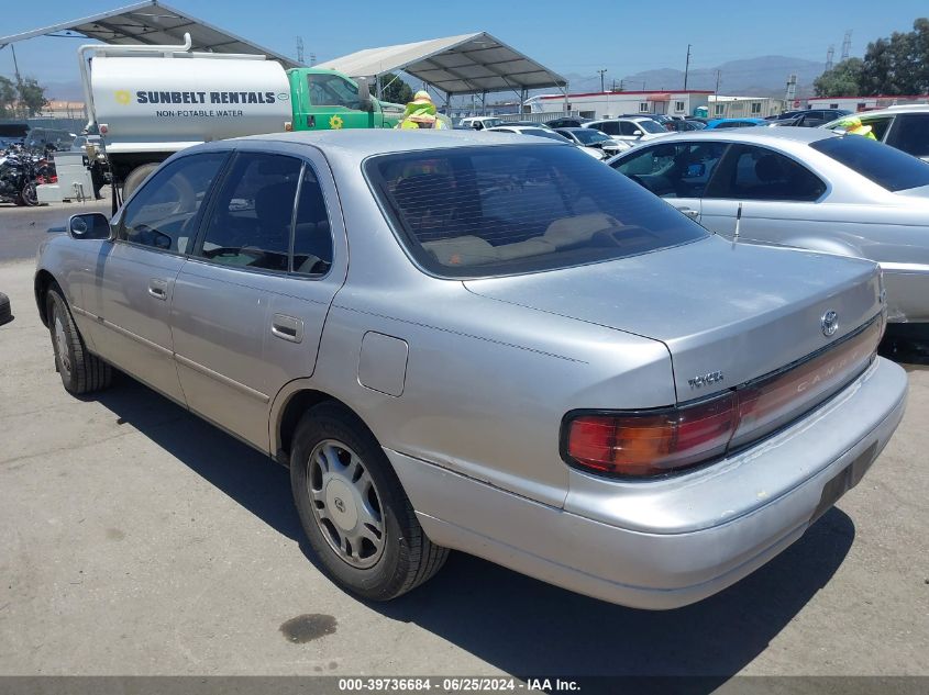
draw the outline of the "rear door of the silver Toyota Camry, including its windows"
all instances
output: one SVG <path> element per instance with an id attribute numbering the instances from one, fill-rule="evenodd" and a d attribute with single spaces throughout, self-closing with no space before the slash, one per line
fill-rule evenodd
<path id="1" fill-rule="evenodd" d="M 270 403 L 312 374 L 345 279 L 335 200 L 321 156 L 241 145 L 177 278 L 172 326 L 187 403 L 262 450 Z"/>

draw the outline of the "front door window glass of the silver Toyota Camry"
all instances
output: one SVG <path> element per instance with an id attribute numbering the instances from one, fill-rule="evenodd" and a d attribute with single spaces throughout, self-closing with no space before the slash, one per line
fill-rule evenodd
<path id="1" fill-rule="evenodd" d="M 191 155 L 156 171 L 126 204 L 119 238 L 163 251 L 189 253 L 203 199 L 226 156 Z"/>

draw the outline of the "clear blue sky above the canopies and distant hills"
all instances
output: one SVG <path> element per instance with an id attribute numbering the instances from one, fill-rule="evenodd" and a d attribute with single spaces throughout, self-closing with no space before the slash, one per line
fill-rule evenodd
<path id="1" fill-rule="evenodd" d="M 15 34 L 88 16 L 128 0 L 41 0 L 3 3 L 0 35 Z M 167 4 L 221 29 L 289 56 L 303 38 L 307 59 L 322 61 L 390 44 L 487 31 L 563 75 L 607 80 L 652 68 L 710 68 L 727 60 L 786 55 L 825 63 L 829 44 L 839 58 L 845 30 L 852 30 L 851 55 L 861 56 L 869 41 L 894 31 L 910 31 L 929 14 L 926 0 L 847 0 L 843 3 L 645 0 L 604 2 L 513 2 L 452 0 L 438 2 L 295 2 L 289 0 L 170 0 Z M 841 8 L 827 9 L 825 5 Z M 752 5 L 752 7 L 748 7 Z M 53 85 L 78 81 L 76 49 L 80 38 L 33 38 L 16 44 L 20 71 Z M 0 49 L 0 75 L 12 76 L 9 46 Z"/>

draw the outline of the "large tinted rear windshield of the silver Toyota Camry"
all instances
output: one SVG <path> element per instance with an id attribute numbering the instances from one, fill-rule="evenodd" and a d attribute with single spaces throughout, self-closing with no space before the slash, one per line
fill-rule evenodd
<path id="1" fill-rule="evenodd" d="M 566 268 L 708 235 L 576 147 L 379 155 L 365 172 L 410 255 L 447 278 Z"/>

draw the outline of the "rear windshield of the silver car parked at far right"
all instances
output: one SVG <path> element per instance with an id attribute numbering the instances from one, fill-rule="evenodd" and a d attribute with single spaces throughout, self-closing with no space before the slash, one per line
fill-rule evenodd
<path id="1" fill-rule="evenodd" d="M 810 147 L 888 191 L 929 186 L 929 164 L 862 135 L 827 137 Z"/>

